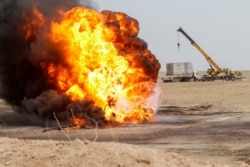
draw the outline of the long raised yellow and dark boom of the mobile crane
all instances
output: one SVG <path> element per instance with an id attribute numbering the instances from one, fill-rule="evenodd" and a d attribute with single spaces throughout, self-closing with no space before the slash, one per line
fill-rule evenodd
<path id="1" fill-rule="evenodd" d="M 216 71 L 212 68 L 209 71 L 209 74 L 212 76 L 217 76 L 221 72 L 225 72 L 181 27 L 177 30 L 181 32 L 190 42 L 191 44 L 205 57 L 205 59 L 209 62 L 210 66 L 216 68 Z"/>

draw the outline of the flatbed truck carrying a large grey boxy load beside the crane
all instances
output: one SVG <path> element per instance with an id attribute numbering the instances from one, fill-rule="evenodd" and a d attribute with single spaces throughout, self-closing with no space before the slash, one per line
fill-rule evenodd
<path id="1" fill-rule="evenodd" d="M 198 80 L 192 62 L 176 62 L 166 64 L 166 75 L 161 77 L 163 82 L 192 82 Z"/>

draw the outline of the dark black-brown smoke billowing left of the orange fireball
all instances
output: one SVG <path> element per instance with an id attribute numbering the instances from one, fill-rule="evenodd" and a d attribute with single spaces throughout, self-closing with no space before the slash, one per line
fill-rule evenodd
<path id="1" fill-rule="evenodd" d="M 25 11 L 32 18 L 33 7 L 36 6 L 46 18 L 52 20 L 56 19 L 59 9 L 66 11 L 81 5 L 92 9 L 97 7 L 92 0 L 0 1 L 0 93 L 1 98 L 18 108 L 18 111 L 52 117 L 52 110 L 64 111 L 69 103 L 66 96 L 54 90 L 55 85 L 48 82 L 37 65 L 36 53 L 42 47 L 36 44 L 36 36 L 28 41 L 23 39 L 21 27 L 27 24 L 27 20 L 23 18 L 22 12 Z M 59 119 L 65 119 L 65 113 L 59 114 Z"/>

